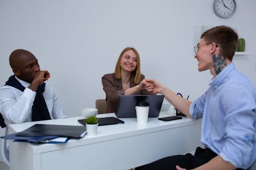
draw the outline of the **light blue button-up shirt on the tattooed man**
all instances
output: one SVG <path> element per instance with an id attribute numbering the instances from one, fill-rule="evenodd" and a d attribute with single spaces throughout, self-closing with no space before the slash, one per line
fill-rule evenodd
<path id="1" fill-rule="evenodd" d="M 190 105 L 202 118 L 201 142 L 225 161 L 247 169 L 256 159 L 256 90 L 233 63 Z"/>

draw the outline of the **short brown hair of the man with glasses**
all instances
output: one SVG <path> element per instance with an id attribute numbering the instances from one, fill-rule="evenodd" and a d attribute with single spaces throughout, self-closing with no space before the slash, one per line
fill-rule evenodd
<path id="1" fill-rule="evenodd" d="M 230 27 L 218 26 L 205 31 L 201 38 L 206 42 L 215 42 L 220 47 L 220 54 L 232 61 L 238 47 L 238 34 Z"/>

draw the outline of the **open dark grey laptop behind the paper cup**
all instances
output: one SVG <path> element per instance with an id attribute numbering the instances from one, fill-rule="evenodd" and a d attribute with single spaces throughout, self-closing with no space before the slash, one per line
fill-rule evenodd
<path id="1" fill-rule="evenodd" d="M 136 117 L 135 105 L 137 102 L 150 103 L 148 117 L 158 117 L 164 95 L 119 95 L 116 115 L 120 118 Z"/>

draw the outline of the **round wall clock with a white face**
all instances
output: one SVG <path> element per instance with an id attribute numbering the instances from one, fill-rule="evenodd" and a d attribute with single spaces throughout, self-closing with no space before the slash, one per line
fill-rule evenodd
<path id="1" fill-rule="evenodd" d="M 221 18 L 228 18 L 236 11 L 237 3 L 235 0 L 215 0 L 214 12 Z"/>

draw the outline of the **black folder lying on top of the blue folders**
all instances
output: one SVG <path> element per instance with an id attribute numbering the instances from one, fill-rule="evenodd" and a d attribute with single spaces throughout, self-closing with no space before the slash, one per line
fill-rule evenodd
<path id="1" fill-rule="evenodd" d="M 63 137 L 81 138 L 86 134 L 86 127 L 84 126 L 70 126 L 70 125 L 45 125 L 35 124 L 30 128 L 17 133 L 17 136 L 50 136 L 57 135 Z"/>

